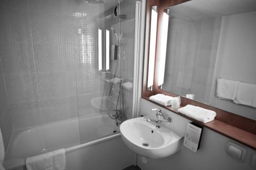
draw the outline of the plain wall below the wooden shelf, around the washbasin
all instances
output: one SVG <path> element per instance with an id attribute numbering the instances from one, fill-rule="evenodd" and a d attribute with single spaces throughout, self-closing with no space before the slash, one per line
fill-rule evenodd
<path id="1" fill-rule="evenodd" d="M 159 108 L 159 106 L 150 103 L 144 99 L 140 100 L 140 114 L 148 115 L 151 118 L 156 118 L 155 112 L 151 111 L 152 108 Z M 181 117 L 173 112 L 161 108 L 165 116 L 170 116 L 173 118 L 172 123 L 162 123 L 176 133 L 183 135 L 185 134 L 188 119 Z M 174 170 L 216 170 L 216 169 L 255 169 L 250 165 L 252 158 L 252 153 L 256 154 L 250 148 L 247 148 L 247 156 L 244 162 L 234 160 L 229 157 L 225 152 L 226 142 L 229 141 L 227 137 L 220 135 L 214 131 L 207 128 L 203 129 L 202 139 L 200 149 L 197 153 L 189 151 L 185 147 L 181 149 L 178 153 L 164 158 L 164 159 L 148 159 L 147 163 L 141 162 L 141 157 L 138 157 L 138 165 L 144 170 L 162 170 L 162 169 L 174 169 Z"/>

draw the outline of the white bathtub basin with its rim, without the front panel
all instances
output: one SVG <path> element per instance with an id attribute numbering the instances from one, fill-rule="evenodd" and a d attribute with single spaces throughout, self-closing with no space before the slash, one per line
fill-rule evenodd
<path id="1" fill-rule="evenodd" d="M 115 121 L 106 113 L 17 130 L 13 132 L 4 166 L 16 169 L 25 165 L 27 157 L 61 148 L 65 148 L 67 154 L 119 137 L 120 133 L 113 133 L 114 130 Z"/>

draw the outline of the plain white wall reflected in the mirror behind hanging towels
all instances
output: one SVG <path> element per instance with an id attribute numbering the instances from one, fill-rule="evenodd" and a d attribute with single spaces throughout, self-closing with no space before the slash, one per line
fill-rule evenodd
<path id="1" fill-rule="evenodd" d="M 256 84 L 256 11 L 224 16 L 214 80 L 226 78 Z M 216 87 L 216 81 L 213 86 Z M 220 100 L 212 88 L 210 105 L 256 120 L 256 109 Z"/>

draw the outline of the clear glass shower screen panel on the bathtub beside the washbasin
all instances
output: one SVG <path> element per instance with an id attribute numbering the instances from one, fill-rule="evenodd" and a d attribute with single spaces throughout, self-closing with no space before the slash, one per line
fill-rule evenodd
<path id="1" fill-rule="evenodd" d="M 82 2 L 77 102 L 81 142 L 119 131 L 132 117 L 135 1 Z"/>

